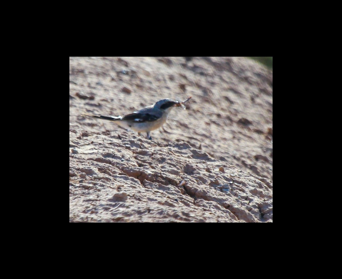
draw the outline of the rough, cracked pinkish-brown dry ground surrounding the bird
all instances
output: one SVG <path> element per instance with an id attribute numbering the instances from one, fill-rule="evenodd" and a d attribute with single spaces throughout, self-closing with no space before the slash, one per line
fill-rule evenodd
<path id="1" fill-rule="evenodd" d="M 273 222 L 272 83 L 246 57 L 70 57 L 69 222 Z M 83 116 L 189 96 L 152 140 Z"/>

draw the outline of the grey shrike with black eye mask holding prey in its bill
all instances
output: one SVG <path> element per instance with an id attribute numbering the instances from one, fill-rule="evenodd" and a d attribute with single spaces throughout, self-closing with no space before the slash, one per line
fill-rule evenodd
<path id="1" fill-rule="evenodd" d="M 191 97 L 190 97 L 191 98 Z M 87 117 L 100 118 L 105 120 L 114 121 L 120 127 L 140 133 L 145 132 L 147 139 L 152 139 L 150 132 L 160 128 L 168 119 L 171 109 L 175 106 L 182 106 L 187 102 L 173 101 L 171 99 L 162 99 L 155 105 L 145 107 L 141 110 L 134 111 L 132 114 L 126 116 L 96 116 L 89 115 Z"/>

